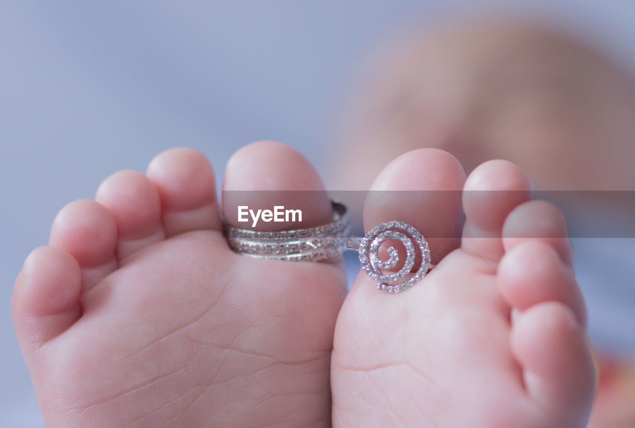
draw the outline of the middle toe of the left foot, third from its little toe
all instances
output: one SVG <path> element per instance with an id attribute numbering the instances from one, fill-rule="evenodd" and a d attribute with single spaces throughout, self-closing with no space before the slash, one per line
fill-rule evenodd
<path id="1" fill-rule="evenodd" d="M 117 259 L 165 238 L 161 223 L 161 199 L 148 177 L 137 171 L 120 171 L 108 177 L 97 190 L 117 223 Z"/>

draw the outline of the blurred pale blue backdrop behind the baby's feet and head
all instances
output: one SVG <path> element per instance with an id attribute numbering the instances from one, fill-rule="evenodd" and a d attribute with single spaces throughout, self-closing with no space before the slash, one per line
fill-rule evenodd
<path id="1" fill-rule="evenodd" d="M 0 425 L 42 426 L 10 300 L 23 259 L 46 244 L 59 209 L 92 198 L 112 172 L 144 171 L 152 156 L 174 146 L 208 155 L 219 184 L 229 156 L 262 139 L 290 144 L 323 176 L 333 174 L 343 106 L 369 52 L 404 25 L 501 7 L 439 0 L 0 2 Z M 635 3 L 507 1 L 505 9 L 582 34 L 635 69 Z M 634 248 L 623 244 L 624 261 L 615 267 L 622 281 Z M 632 300 L 627 304 L 623 310 Z M 603 327 L 597 315 L 593 324 L 592 311 L 592 326 L 598 336 L 608 331 L 608 347 L 632 350 L 628 337 L 610 334 L 616 324 L 635 330 L 624 324 L 632 318 L 619 314 Z"/>

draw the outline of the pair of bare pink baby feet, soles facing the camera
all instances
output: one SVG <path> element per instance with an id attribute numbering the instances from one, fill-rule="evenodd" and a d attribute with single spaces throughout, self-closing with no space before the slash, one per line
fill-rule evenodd
<path id="1" fill-rule="evenodd" d="M 223 188 L 323 184 L 294 149 L 258 142 Z M 366 201 L 367 230 L 399 220 L 432 237 L 438 266 L 403 293 L 364 272 L 346 293 L 339 260 L 232 252 L 213 170 L 191 149 L 64 207 L 13 294 L 46 426 L 584 427 L 595 378 L 561 213 L 512 163 L 466 180 L 439 149 L 399 156 L 373 189 L 467 190 Z M 331 221 L 315 194 L 303 227 Z"/>

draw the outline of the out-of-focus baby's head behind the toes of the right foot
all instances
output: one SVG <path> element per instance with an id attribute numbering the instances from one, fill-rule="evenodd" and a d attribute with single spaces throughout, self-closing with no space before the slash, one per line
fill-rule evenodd
<path id="1" fill-rule="evenodd" d="M 634 81 L 563 31 L 509 18 L 426 25 L 385 43 L 362 74 L 331 187 L 366 189 L 396 156 L 434 147 L 467 173 L 511 160 L 542 190 L 635 189 Z"/>

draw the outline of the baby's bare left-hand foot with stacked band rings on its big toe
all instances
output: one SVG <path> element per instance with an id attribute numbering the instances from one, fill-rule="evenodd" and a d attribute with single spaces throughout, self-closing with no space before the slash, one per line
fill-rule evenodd
<path id="1" fill-rule="evenodd" d="M 234 155 L 224 189 L 323 185 L 299 153 L 261 142 Z M 206 158 L 173 149 L 58 214 L 13 295 L 48 427 L 330 425 L 341 266 L 234 254 L 214 194 Z M 332 219 L 314 195 L 302 227 Z"/>

